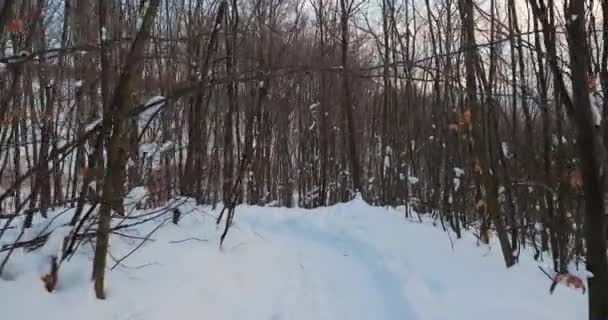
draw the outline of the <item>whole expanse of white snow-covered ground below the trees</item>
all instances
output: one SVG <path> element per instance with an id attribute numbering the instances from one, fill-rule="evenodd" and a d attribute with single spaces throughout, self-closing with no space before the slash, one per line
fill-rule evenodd
<path id="1" fill-rule="evenodd" d="M 559 320 L 585 319 L 586 296 L 550 281 L 530 254 L 509 270 L 498 246 L 448 235 L 360 200 L 303 210 L 238 207 L 223 249 L 218 212 L 184 208 L 154 241 L 108 273 L 93 296 L 92 248 L 61 266 L 57 291 L 40 275 L 48 250 L 15 253 L 0 280 L 6 319 Z M 131 230 L 145 236 L 158 225 Z M 185 240 L 196 238 L 198 240 Z M 200 241 L 206 240 L 206 241 Z M 113 236 L 121 257 L 140 240 Z M 178 242 L 178 243 L 176 243 Z M 110 266 L 113 260 L 109 260 Z"/>

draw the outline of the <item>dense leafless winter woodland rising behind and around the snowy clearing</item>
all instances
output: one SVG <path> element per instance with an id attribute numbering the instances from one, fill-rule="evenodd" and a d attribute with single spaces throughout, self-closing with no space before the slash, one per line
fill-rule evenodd
<path id="1" fill-rule="evenodd" d="M 586 267 L 589 317 L 608 319 L 607 15 L 606 0 L 0 0 L 0 238 L 76 208 L 53 270 L 93 239 L 103 298 L 137 187 L 149 208 L 223 207 L 226 232 L 242 203 L 360 195 L 497 237 L 506 267 L 522 247 Z M 2 247 L 0 274 L 44 241 Z"/>

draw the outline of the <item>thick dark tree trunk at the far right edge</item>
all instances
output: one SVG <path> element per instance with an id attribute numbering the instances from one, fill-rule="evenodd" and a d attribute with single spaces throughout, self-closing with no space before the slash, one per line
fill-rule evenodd
<path id="1" fill-rule="evenodd" d="M 585 192 L 585 241 L 589 281 L 589 320 L 608 318 L 608 257 L 606 256 L 606 217 L 604 178 L 606 154 L 595 128 L 587 87 L 588 48 L 585 31 L 585 2 L 570 1 L 566 9 L 568 42 L 572 70 L 574 121 L 583 172 Z"/>

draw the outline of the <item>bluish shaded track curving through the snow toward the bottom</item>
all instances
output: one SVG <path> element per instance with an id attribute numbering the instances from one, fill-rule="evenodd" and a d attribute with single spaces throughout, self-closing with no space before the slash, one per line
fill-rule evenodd
<path id="1" fill-rule="evenodd" d="M 303 262 L 305 273 L 309 275 L 307 282 L 316 287 L 312 294 L 325 296 L 319 300 L 326 306 L 322 303 L 318 312 L 342 309 L 343 313 L 350 313 L 348 317 L 347 314 L 333 314 L 319 315 L 319 318 L 417 319 L 414 306 L 404 295 L 402 280 L 387 267 L 379 252 L 352 235 L 336 232 L 340 229 L 315 223 L 320 222 L 314 220 L 319 218 L 298 215 L 280 219 L 272 226 L 250 221 L 250 227 L 267 231 L 265 237 L 300 243 L 298 247 L 309 258 Z M 329 261 L 316 259 L 320 257 Z M 340 267 L 350 270 L 340 270 Z M 349 272 L 353 275 L 350 279 Z M 336 308 L 336 304 L 342 304 L 344 308 Z M 349 305 L 354 310 L 343 310 Z"/>

